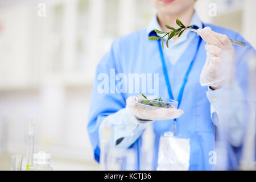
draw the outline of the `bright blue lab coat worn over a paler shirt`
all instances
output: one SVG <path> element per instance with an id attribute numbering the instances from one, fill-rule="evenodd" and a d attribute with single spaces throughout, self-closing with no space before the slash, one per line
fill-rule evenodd
<path id="1" fill-rule="evenodd" d="M 229 38 L 246 42 L 237 32 L 205 24 L 215 32 L 226 34 Z M 110 78 L 110 69 L 115 69 L 117 73 L 159 73 L 159 96 L 168 98 L 168 90 L 166 80 L 163 74 L 163 67 L 160 60 L 158 42 L 148 40 L 146 28 L 133 32 L 132 34 L 122 36 L 115 40 L 112 47 L 106 55 L 104 55 L 97 66 L 96 80 L 92 90 L 92 98 L 89 110 L 88 133 L 90 142 L 94 152 L 94 158 L 98 162 L 100 159 L 100 146 L 98 139 L 98 127 L 102 120 L 110 114 L 123 109 L 126 106 L 126 99 L 136 94 L 129 93 L 98 93 L 97 85 L 100 81 L 97 76 L 100 73 L 106 73 Z M 207 86 L 201 86 L 199 82 L 200 73 L 203 69 L 206 59 L 205 42 L 202 40 L 199 50 L 196 50 L 199 36 L 195 36 L 194 40 L 187 47 L 179 61 L 172 65 L 170 61 L 166 61 L 168 76 L 172 86 L 174 99 L 177 95 L 183 78 L 191 59 L 197 51 L 196 60 L 193 64 L 191 73 L 185 85 L 183 98 L 179 109 L 184 111 L 180 118 L 177 118 L 177 133 L 191 139 L 191 154 L 189 160 L 189 170 L 210 170 L 212 166 L 209 164 L 209 152 L 214 150 L 215 129 L 210 116 L 210 102 L 207 98 Z M 255 50 L 246 42 L 246 47 L 234 46 L 236 52 L 236 77 L 241 88 L 247 88 L 247 68 L 245 63 L 245 54 L 247 51 Z M 166 59 L 167 60 L 167 59 Z M 109 85 L 111 89 L 114 89 Z M 243 90 L 246 93 L 246 89 Z M 147 93 L 146 93 L 147 94 Z M 154 169 L 157 166 L 159 138 L 165 131 L 172 131 L 172 121 L 155 121 L 154 133 Z M 141 152 L 142 139 L 139 137 L 131 146 L 138 154 L 137 169 L 139 169 L 139 155 Z"/>

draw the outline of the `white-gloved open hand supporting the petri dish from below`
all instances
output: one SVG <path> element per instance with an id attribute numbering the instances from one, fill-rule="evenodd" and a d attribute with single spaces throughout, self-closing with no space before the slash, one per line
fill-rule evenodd
<path id="1" fill-rule="evenodd" d="M 139 119 L 148 119 L 151 121 L 179 118 L 183 114 L 181 109 L 150 109 L 136 105 L 135 96 L 126 100 L 126 109 L 130 110 Z"/>

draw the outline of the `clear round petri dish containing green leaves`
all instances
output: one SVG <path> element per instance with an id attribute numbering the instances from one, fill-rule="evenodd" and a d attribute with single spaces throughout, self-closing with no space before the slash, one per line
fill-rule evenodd
<path id="1" fill-rule="evenodd" d="M 168 98 L 162 98 L 162 101 L 154 100 L 155 98 L 144 98 L 141 95 L 135 97 L 136 105 L 150 109 L 177 109 L 178 102 Z"/>

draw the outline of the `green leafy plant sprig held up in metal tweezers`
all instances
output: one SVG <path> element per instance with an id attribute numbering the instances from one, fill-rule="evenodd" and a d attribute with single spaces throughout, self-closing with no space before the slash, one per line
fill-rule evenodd
<path id="1" fill-rule="evenodd" d="M 159 40 L 159 39 L 162 39 L 162 47 L 164 48 L 164 37 L 168 35 L 168 38 L 167 38 L 167 41 L 166 41 L 166 46 L 167 48 L 169 48 L 168 46 L 168 41 L 173 38 L 174 36 L 178 35 L 178 37 L 180 37 L 183 32 L 185 31 L 186 28 L 191 28 L 193 27 L 192 25 L 189 25 L 189 26 L 184 26 L 183 23 L 180 22 L 179 19 L 176 19 L 176 24 L 180 27 L 180 28 L 177 28 L 175 29 L 174 27 L 171 27 L 171 26 L 168 26 L 168 24 L 165 24 L 164 27 L 170 29 L 171 31 L 170 32 L 165 32 L 165 31 L 160 31 L 160 30 L 156 30 L 154 29 L 154 31 L 158 34 L 165 34 L 164 36 L 162 37 L 159 37 L 159 36 L 150 36 L 148 39 L 149 40 Z"/>

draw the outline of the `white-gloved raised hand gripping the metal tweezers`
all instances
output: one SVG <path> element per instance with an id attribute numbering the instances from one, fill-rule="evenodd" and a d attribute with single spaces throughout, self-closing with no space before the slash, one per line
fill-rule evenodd
<path id="1" fill-rule="evenodd" d="M 210 86 L 220 89 L 229 86 L 234 77 L 234 48 L 226 35 L 219 34 L 205 27 L 199 28 L 197 34 L 207 44 L 207 59 L 200 75 L 201 86 Z"/>

